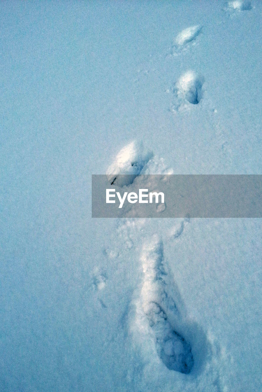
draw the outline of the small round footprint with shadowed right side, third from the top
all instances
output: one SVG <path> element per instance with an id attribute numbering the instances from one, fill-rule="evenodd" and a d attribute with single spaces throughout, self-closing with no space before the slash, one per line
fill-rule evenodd
<path id="1" fill-rule="evenodd" d="M 197 105 L 203 98 L 204 78 L 193 71 L 188 71 L 180 76 L 176 83 L 175 92 L 182 102 Z"/>

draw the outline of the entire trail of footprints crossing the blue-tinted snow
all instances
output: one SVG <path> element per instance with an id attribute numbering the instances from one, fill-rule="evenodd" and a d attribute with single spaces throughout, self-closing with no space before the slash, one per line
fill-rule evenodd
<path id="1" fill-rule="evenodd" d="M 229 1 L 225 6 L 225 10 L 229 12 L 250 9 L 252 9 L 251 2 L 245 0 Z M 200 33 L 202 33 L 200 25 L 181 31 L 174 40 L 172 54 L 178 55 L 186 51 L 189 45 L 195 44 Z M 203 76 L 194 71 L 182 74 L 174 89 L 179 102 L 177 109 L 185 103 L 191 105 L 200 103 L 203 98 L 203 83 Z M 172 174 L 172 171 L 165 167 L 163 160 L 157 160 L 152 152 L 145 152 L 143 146 L 136 142 L 131 142 L 121 149 L 107 170 L 110 184 L 119 187 L 131 185 L 139 174 L 163 173 Z M 188 217 L 182 220 L 178 227 L 174 227 L 170 238 L 178 238 L 187 222 L 189 222 Z M 186 321 L 178 309 L 176 295 L 172 293 L 174 282 L 164 267 L 163 243 L 158 236 L 155 235 L 144 243 L 140 260 L 143 267 L 143 285 L 137 302 L 137 318 L 139 320 L 142 310 L 154 334 L 156 352 L 163 364 L 170 370 L 189 374 L 194 366 L 192 347 L 190 341 L 181 332 L 187 327 Z M 93 283 L 98 290 L 103 289 L 105 280 L 103 274 L 95 271 Z"/>

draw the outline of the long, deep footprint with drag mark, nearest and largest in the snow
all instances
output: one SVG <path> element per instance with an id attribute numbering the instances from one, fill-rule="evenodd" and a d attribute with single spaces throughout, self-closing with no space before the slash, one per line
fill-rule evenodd
<path id="1" fill-rule="evenodd" d="M 142 309 L 154 332 L 156 351 L 170 370 L 189 374 L 194 365 L 191 345 L 174 326 L 180 318 L 177 305 L 167 293 L 168 277 L 163 267 L 163 244 L 158 237 L 143 248 L 141 261 L 144 281 Z"/>

